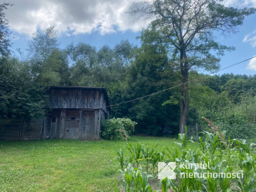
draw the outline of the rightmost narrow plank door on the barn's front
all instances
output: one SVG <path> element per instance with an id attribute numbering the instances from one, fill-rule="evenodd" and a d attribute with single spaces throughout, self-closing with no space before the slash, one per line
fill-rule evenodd
<path id="1" fill-rule="evenodd" d="M 81 139 L 93 140 L 95 134 L 94 131 L 94 111 L 83 111 Z"/>

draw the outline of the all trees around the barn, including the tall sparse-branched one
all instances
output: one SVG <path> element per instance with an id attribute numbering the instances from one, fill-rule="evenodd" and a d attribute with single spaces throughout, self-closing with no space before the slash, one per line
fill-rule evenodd
<path id="1" fill-rule="evenodd" d="M 236 33 L 253 8 L 228 8 L 209 0 L 140 1 L 130 13 L 152 19 L 141 31 L 140 47 L 122 40 L 114 47 L 79 42 L 60 48 L 58 33 L 50 27 L 35 33 L 28 41 L 28 55 L 19 60 L 12 56 L 7 38 L 4 10 L 10 5 L 1 4 L 0 9 L 1 29 L 6 30 L 1 46 L 7 48 L 0 56 L 0 120 L 45 115 L 49 86 L 104 86 L 114 104 L 111 116 L 138 122 L 137 133 L 176 134 L 183 131 L 180 125 L 204 125 L 202 116 L 232 136 L 256 123 L 255 76 L 198 73 L 198 68 L 217 70 L 220 56 L 234 49 L 218 44 L 215 31 Z M 198 77 L 200 81 L 187 83 Z"/>

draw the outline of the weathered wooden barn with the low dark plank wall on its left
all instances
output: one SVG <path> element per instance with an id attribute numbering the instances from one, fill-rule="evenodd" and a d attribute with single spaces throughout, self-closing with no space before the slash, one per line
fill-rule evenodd
<path id="1" fill-rule="evenodd" d="M 105 88 L 52 86 L 48 95 L 51 110 L 44 118 L 20 120 L 20 123 L 19 120 L 3 120 L 0 140 L 99 139 L 100 122 L 109 116 Z"/>

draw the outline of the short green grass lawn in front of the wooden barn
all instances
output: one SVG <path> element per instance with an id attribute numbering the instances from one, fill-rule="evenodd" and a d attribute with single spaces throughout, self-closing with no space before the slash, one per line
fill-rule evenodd
<path id="1" fill-rule="evenodd" d="M 169 138 L 134 136 L 132 145 L 159 148 Z M 113 191 L 116 151 L 127 141 L 0 141 L 0 191 Z M 189 143 L 189 147 L 197 147 Z"/>

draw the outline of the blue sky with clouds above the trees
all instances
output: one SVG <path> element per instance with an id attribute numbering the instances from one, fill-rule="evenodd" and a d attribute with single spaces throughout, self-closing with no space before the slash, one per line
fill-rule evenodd
<path id="1" fill-rule="evenodd" d="M 13 0 L 14 5 L 6 11 L 10 29 L 17 39 L 13 40 L 13 49 L 19 48 L 26 54 L 26 45 L 37 28 L 46 29 L 56 26 L 61 47 L 70 43 L 84 42 L 98 49 L 103 45 L 115 46 L 121 40 L 129 40 L 140 45 L 136 36 L 148 22 L 134 22 L 127 9 L 134 0 Z M 256 7 L 256 0 L 225 0 L 227 6 Z M 236 47 L 236 51 L 226 52 L 221 57 L 221 67 L 227 67 L 238 61 L 256 56 L 256 15 L 244 20 L 239 33 L 225 38 L 217 35 L 218 42 Z M 221 71 L 234 74 L 256 74 L 256 59 L 244 62 L 236 67 Z"/>

